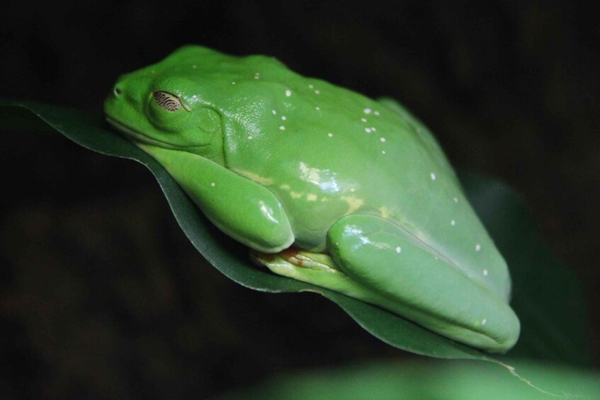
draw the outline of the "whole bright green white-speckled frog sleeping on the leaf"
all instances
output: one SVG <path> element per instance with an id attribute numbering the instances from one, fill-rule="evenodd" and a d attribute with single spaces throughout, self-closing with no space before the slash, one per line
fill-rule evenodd
<path id="1" fill-rule="evenodd" d="M 431 132 L 395 101 L 187 46 L 121 76 L 105 111 L 273 272 L 489 352 L 516 343 L 506 263 Z M 300 253 L 277 254 L 290 246 Z"/>

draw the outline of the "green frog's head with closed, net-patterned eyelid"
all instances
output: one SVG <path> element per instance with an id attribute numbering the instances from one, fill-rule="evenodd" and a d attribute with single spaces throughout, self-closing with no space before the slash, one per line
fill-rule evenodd
<path id="1" fill-rule="evenodd" d="M 186 70 L 162 62 L 120 76 L 104 103 L 107 120 L 133 142 L 222 162 L 221 115 Z"/>

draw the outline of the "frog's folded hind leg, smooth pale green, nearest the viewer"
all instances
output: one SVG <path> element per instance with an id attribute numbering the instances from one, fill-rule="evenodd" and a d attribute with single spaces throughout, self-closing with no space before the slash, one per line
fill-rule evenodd
<path id="1" fill-rule="evenodd" d="M 508 304 L 394 222 L 349 215 L 329 229 L 327 247 L 347 275 L 390 299 L 385 308 L 432 331 L 496 352 L 519 337 Z"/>

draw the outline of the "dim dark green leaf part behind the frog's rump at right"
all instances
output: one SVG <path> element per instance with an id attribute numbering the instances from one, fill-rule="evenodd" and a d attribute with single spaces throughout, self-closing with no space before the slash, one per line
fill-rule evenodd
<path id="1" fill-rule="evenodd" d="M 474 173 L 461 173 L 461 181 L 511 271 L 521 337 L 509 355 L 591 365 L 582 287 L 543 243 L 523 200 Z"/>

